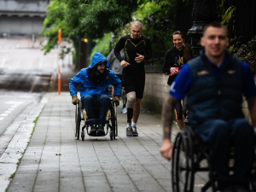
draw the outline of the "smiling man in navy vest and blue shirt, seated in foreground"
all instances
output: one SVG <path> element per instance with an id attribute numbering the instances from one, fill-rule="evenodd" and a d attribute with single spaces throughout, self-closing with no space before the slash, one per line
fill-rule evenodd
<path id="1" fill-rule="evenodd" d="M 218 190 L 249 191 L 253 166 L 253 129 L 256 127 L 256 88 L 247 63 L 230 55 L 227 29 L 219 23 L 204 28 L 201 54 L 183 66 L 163 105 L 163 143 L 160 153 L 172 159 L 173 103 L 188 96 L 189 125 L 207 143 Z M 247 98 L 250 125 L 241 110 Z M 254 128 L 253 128 L 254 126 Z M 229 173 L 230 146 L 234 148 L 234 174 Z"/>

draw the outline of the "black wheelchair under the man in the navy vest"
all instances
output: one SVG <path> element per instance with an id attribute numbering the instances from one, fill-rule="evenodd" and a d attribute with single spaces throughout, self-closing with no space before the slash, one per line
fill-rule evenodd
<path id="1" fill-rule="evenodd" d="M 232 171 L 232 148 L 230 150 L 230 172 Z M 253 167 L 251 172 L 250 190 L 256 191 L 256 135 L 254 139 Z M 217 191 L 217 182 L 214 181 L 214 172 L 210 163 L 210 152 L 207 145 L 202 143 L 201 137 L 186 125 L 177 133 L 172 150 L 172 191 L 193 192 L 195 189 L 195 173 L 208 172 L 208 181 L 201 186 L 205 192 L 212 188 Z M 233 154 L 234 155 L 234 154 Z"/>

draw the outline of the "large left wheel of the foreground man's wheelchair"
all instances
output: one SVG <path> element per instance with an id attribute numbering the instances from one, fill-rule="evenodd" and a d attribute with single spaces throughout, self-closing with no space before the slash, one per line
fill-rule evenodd
<path id="1" fill-rule="evenodd" d="M 195 182 L 193 147 L 187 136 L 179 132 L 172 151 L 173 192 L 193 192 Z"/>

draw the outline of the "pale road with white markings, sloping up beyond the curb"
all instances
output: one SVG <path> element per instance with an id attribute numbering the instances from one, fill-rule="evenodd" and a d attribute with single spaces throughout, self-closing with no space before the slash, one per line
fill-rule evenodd
<path id="1" fill-rule="evenodd" d="M 58 50 L 48 55 L 40 41 L 31 38 L 0 38 L 0 134 L 32 102 L 38 102 L 49 90 L 58 68 Z"/>

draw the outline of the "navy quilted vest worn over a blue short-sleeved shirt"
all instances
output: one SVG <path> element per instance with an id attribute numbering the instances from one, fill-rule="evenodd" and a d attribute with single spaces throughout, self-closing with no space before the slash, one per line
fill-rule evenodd
<path id="1" fill-rule="evenodd" d="M 189 123 L 200 125 L 206 119 L 243 117 L 242 61 L 226 53 L 227 60 L 218 79 L 206 55 L 188 62 L 192 83 L 188 91 Z"/>

